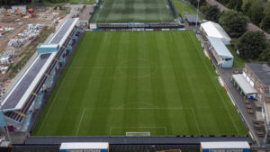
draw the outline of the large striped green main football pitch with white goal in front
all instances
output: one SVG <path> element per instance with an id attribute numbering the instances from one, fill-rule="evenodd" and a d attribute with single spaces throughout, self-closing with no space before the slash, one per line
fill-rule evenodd
<path id="1" fill-rule="evenodd" d="M 246 135 L 193 31 L 85 31 L 35 136 Z"/>

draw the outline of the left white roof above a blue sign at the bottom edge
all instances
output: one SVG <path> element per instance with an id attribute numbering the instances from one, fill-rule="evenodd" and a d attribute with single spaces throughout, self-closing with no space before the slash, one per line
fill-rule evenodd
<path id="1" fill-rule="evenodd" d="M 109 148 L 108 142 L 64 142 L 61 144 L 60 149 L 107 149 Z"/>

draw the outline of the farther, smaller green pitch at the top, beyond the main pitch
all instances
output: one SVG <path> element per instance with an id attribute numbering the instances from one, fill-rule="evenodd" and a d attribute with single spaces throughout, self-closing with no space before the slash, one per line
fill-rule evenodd
<path id="1" fill-rule="evenodd" d="M 168 0 L 103 0 L 91 22 L 174 22 Z"/>

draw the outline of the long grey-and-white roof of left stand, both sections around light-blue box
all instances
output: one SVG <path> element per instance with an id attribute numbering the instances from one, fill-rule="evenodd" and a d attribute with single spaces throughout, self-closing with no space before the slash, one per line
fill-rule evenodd
<path id="1" fill-rule="evenodd" d="M 58 31 L 49 39 L 48 43 L 58 43 L 61 47 L 67 36 L 74 28 L 78 19 L 67 19 L 58 28 Z M 40 78 L 49 67 L 53 58 L 58 52 L 39 54 L 31 61 L 31 65 L 23 72 L 23 75 L 17 79 L 13 87 L 8 91 L 4 101 L 1 103 L 5 111 L 22 109 L 24 103 L 28 100 Z"/>

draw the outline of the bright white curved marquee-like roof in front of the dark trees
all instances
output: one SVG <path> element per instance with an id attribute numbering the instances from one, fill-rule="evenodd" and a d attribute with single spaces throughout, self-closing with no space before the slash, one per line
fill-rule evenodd
<path id="1" fill-rule="evenodd" d="M 223 30 L 223 28 L 220 26 L 219 23 L 216 22 L 203 22 L 201 24 L 201 27 L 204 32 L 206 32 L 207 36 L 220 38 L 226 41 L 230 41 L 230 37 L 227 34 L 226 31 Z"/>

